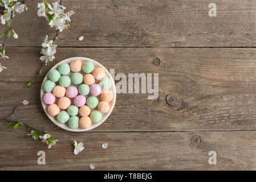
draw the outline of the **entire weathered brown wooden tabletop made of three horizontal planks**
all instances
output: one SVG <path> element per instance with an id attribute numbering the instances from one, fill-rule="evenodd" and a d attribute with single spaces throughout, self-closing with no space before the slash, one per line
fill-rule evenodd
<path id="1" fill-rule="evenodd" d="M 44 36 L 55 34 L 31 2 L 14 18 L 19 38 L 7 40 L 10 59 L 1 60 L 8 69 L 0 73 L 0 118 L 18 106 L 14 119 L 50 131 L 59 142 L 48 150 L 2 121 L 1 170 L 90 170 L 91 163 L 98 170 L 256 169 L 256 1 L 215 0 L 216 17 L 209 17 L 212 1 L 206 0 L 63 2 L 76 13 L 60 33 L 52 65 L 83 56 L 127 76 L 159 73 L 159 97 L 117 94 L 107 121 L 85 133 L 56 126 L 40 103 L 52 65 L 31 89 L 23 88 L 40 69 Z M 152 64 L 156 58 L 159 65 Z M 79 155 L 74 140 L 86 146 Z M 38 165 L 38 151 L 46 152 L 46 165 Z M 216 151 L 216 165 L 208 163 L 209 151 Z"/>

